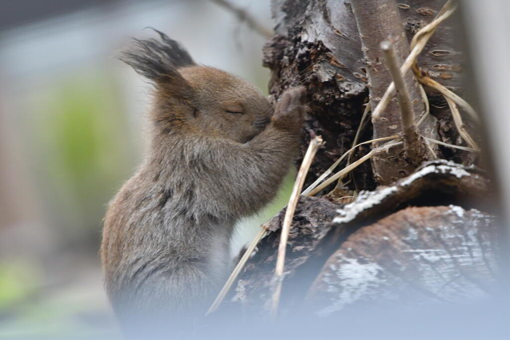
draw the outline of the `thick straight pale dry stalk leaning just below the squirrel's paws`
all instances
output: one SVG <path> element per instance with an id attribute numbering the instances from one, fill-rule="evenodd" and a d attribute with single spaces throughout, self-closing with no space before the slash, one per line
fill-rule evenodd
<path id="1" fill-rule="evenodd" d="M 276 258 L 276 268 L 274 269 L 273 278 L 273 295 L 271 304 L 271 315 L 276 316 L 278 311 L 278 304 L 280 300 L 280 294 L 282 292 L 282 283 L 284 279 L 284 266 L 285 266 L 285 251 L 287 250 L 287 240 L 289 238 L 290 225 L 294 212 L 296 210 L 297 201 L 299 200 L 299 193 L 303 187 L 304 179 L 307 176 L 308 169 L 314 159 L 315 153 L 322 145 L 322 138 L 315 136 L 308 146 L 307 153 L 305 153 L 301 167 L 297 173 L 296 181 L 294 182 L 294 188 L 287 204 L 287 211 L 285 212 L 284 222 L 282 225 L 282 231 L 280 234 L 280 242 L 278 245 L 278 255 Z"/>

